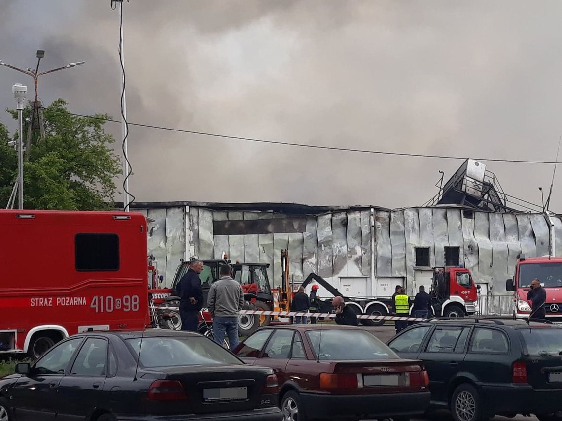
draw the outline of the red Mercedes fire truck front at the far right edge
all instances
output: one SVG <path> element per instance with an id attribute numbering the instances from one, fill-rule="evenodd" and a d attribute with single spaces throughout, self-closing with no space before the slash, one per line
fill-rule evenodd
<path id="1" fill-rule="evenodd" d="M 514 314 L 517 318 L 531 315 L 531 303 L 527 300 L 529 286 L 538 278 L 546 290 L 546 318 L 562 322 L 562 257 L 519 257 L 513 279 L 506 282 L 506 290 L 513 291 Z"/>

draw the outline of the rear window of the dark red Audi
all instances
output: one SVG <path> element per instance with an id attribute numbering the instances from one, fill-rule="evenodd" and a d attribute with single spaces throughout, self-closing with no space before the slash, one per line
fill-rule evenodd
<path id="1" fill-rule="evenodd" d="M 320 360 L 360 361 L 398 359 L 388 346 L 368 332 L 360 330 L 308 331 L 316 358 Z"/>

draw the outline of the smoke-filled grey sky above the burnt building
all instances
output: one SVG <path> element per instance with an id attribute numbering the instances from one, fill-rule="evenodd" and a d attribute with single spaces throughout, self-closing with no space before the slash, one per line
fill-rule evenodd
<path id="1" fill-rule="evenodd" d="M 540 203 L 562 135 L 562 2 L 130 0 L 130 122 L 292 143 L 480 158 Z M 110 0 L 0 0 L 0 59 L 41 68 L 39 96 L 119 119 Z M 11 86 L 0 67 L 0 121 Z M 29 98 L 32 97 L 30 93 Z M 119 141 L 119 123 L 107 123 Z M 391 157 L 131 127 L 138 201 L 421 205 L 461 161 Z M 562 161 L 562 158 L 560 158 Z M 562 212 L 562 169 L 551 210 Z M 116 198 L 121 200 L 121 196 Z"/>

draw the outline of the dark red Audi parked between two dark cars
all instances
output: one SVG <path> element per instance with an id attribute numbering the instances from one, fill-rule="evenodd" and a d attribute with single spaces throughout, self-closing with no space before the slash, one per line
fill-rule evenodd
<path id="1" fill-rule="evenodd" d="M 261 328 L 234 353 L 273 368 L 284 421 L 407 418 L 429 405 L 423 363 L 400 359 L 362 328 Z"/>

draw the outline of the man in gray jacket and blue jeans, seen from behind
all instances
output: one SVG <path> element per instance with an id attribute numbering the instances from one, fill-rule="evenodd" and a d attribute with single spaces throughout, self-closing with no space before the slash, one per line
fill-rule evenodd
<path id="1" fill-rule="evenodd" d="M 223 345 L 225 333 L 228 334 L 230 349 L 238 345 L 238 312 L 244 306 L 244 293 L 240 284 L 230 277 L 230 266 L 220 268 L 220 279 L 214 282 L 207 295 L 207 307 L 213 322 L 215 342 Z"/>

